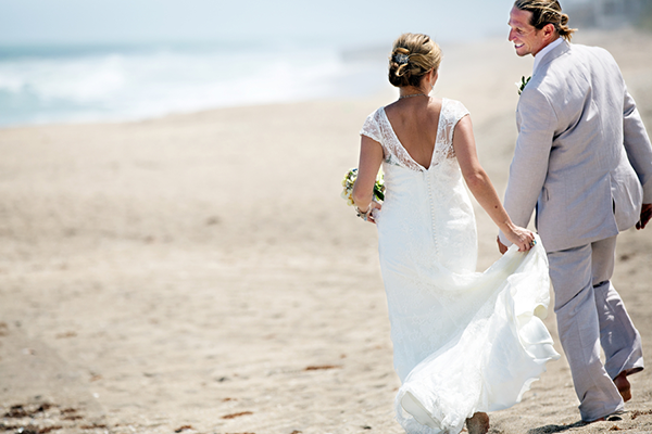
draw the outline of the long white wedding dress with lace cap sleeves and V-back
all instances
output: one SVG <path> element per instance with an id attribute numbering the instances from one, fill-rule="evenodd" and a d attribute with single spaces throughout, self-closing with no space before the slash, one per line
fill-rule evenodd
<path id="1" fill-rule="evenodd" d="M 518 403 L 560 356 L 540 318 L 548 259 L 537 238 L 476 272 L 475 216 L 452 148 L 468 112 L 443 99 L 430 167 L 400 143 L 381 107 L 362 135 L 383 145 L 386 195 L 376 214 L 394 368 L 408 433 L 460 433 L 466 418 Z"/>

